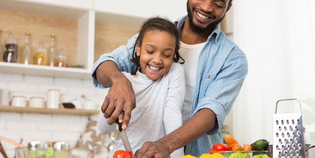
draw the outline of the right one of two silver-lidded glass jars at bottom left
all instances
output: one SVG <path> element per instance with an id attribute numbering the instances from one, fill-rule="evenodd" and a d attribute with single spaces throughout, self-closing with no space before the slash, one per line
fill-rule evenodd
<path id="1" fill-rule="evenodd" d="M 52 144 L 53 158 L 70 158 L 71 148 L 68 142 L 58 141 Z"/>

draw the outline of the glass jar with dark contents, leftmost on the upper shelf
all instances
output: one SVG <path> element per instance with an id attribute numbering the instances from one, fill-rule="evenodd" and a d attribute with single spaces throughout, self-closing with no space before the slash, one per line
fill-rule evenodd
<path id="1" fill-rule="evenodd" d="M 5 47 L 3 61 L 16 63 L 18 60 L 18 41 L 14 39 L 14 35 L 12 33 L 8 34 L 8 37 L 5 40 Z"/>

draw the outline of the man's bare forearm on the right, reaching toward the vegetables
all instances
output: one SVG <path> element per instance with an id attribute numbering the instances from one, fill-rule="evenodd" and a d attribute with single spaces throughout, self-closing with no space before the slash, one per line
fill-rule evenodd
<path id="1" fill-rule="evenodd" d="M 202 109 L 180 128 L 158 140 L 167 144 L 169 153 L 190 144 L 215 127 L 216 115 L 210 109 Z"/>

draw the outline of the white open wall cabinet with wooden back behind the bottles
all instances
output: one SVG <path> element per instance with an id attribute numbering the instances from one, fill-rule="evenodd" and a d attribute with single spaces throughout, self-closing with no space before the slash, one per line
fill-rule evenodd
<path id="1" fill-rule="evenodd" d="M 139 26 L 145 19 L 107 12 L 101 10 L 102 6 L 97 6 L 101 11 L 96 11 L 93 5 L 95 5 L 94 1 L 89 0 L 0 1 L 0 30 L 2 30 L 0 42 L 3 44 L 9 32 L 14 33 L 19 45 L 19 59 L 22 58 L 26 31 L 31 32 L 33 50 L 40 41 L 43 41 L 47 48 L 50 44 L 49 35 L 53 32 L 56 34 L 57 47 L 65 49 L 70 65 L 83 66 L 83 68 L 58 68 L 0 62 L 0 73 L 90 79 L 93 63 L 99 56 L 127 43 L 128 39 L 138 32 Z M 117 6 L 114 8 L 120 10 Z M 102 34 L 102 30 L 105 29 L 107 33 Z M 99 40 L 102 38 L 107 38 L 107 43 Z M 95 49 L 98 50 L 96 56 Z"/>

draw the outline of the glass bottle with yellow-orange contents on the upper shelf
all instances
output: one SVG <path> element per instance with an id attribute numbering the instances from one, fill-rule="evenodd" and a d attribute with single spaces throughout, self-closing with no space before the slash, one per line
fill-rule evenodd
<path id="1" fill-rule="evenodd" d="M 47 65 L 47 50 L 44 48 L 44 43 L 39 42 L 38 48 L 35 49 L 33 55 L 34 65 Z"/>

